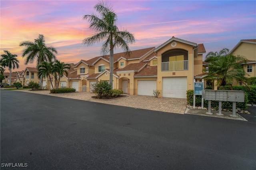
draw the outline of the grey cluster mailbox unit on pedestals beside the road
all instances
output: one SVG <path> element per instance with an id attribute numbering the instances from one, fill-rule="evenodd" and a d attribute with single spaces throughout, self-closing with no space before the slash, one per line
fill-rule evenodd
<path id="1" fill-rule="evenodd" d="M 203 98 L 208 100 L 208 112 L 206 114 L 211 114 L 211 101 L 219 101 L 219 113 L 217 115 L 223 115 L 221 113 L 221 102 L 231 101 L 233 102 L 232 107 L 232 117 L 236 116 L 236 102 L 244 102 L 244 91 L 234 91 L 234 90 L 204 90 L 202 92 Z"/>

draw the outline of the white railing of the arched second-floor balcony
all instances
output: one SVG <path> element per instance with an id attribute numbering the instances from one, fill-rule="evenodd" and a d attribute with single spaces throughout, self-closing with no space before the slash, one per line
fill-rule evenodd
<path id="1" fill-rule="evenodd" d="M 161 63 L 161 71 L 188 70 L 188 60 L 170 61 Z"/>

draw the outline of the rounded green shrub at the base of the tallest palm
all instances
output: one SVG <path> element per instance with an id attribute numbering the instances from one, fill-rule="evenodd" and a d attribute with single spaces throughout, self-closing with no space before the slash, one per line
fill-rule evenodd
<path id="1" fill-rule="evenodd" d="M 98 95 L 99 97 L 110 95 L 111 85 L 106 80 L 100 80 L 96 83 L 90 85 L 92 93 Z"/>

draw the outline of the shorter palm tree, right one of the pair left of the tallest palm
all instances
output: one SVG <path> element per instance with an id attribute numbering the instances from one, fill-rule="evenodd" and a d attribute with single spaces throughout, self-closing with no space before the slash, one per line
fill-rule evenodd
<path id="1" fill-rule="evenodd" d="M 54 61 L 53 74 L 54 74 L 56 89 L 59 88 L 60 78 L 62 78 L 64 74 L 68 76 L 68 70 L 70 69 L 70 67 L 71 65 L 68 63 L 60 62 L 58 60 Z M 58 81 L 58 84 L 56 85 L 57 81 Z"/>

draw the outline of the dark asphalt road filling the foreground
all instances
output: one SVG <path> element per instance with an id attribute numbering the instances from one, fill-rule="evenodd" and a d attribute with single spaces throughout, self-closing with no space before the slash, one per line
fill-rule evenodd
<path id="1" fill-rule="evenodd" d="M 253 121 L 20 91 L 0 90 L 0 100 L 1 170 L 256 169 Z"/>

